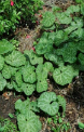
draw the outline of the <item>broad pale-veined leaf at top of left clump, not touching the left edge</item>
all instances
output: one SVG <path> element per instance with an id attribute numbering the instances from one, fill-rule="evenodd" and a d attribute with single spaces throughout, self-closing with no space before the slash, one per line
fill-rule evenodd
<path id="1" fill-rule="evenodd" d="M 13 51 L 5 56 L 5 63 L 11 66 L 19 67 L 26 64 L 26 57 L 19 51 Z"/>

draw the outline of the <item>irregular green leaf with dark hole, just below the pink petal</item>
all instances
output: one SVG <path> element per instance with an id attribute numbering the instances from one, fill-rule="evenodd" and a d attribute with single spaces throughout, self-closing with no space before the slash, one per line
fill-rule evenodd
<path id="1" fill-rule="evenodd" d="M 40 57 L 39 55 L 37 55 L 32 50 L 30 51 L 26 50 L 24 51 L 24 53 L 28 55 L 31 65 L 43 63 L 43 57 Z"/>

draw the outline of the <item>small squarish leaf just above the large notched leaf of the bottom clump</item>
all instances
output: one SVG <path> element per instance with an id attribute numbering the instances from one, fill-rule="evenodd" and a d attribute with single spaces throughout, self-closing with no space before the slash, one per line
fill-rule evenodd
<path id="1" fill-rule="evenodd" d="M 41 92 L 46 91 L 46 90 L 47 90 L 47 81 L 45 79 L 39 80 L 37 82 L 37 92 L 41 93 Z"/>

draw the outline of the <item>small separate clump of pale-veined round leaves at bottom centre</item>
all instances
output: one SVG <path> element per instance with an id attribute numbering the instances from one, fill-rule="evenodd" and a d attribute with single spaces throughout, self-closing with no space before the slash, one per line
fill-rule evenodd
<path id="1" fill-rule="evenodd" d="M 60 100 L 62 100 L 62 102 L 60 102 Z M 65 114 L 66 100 L 61 96 L 56 96 L 54 92 L 44 92 L 34 102 L 30 102 L 29 98 L 24 102 L 20 100 L 16 101 L 15 109 L 20 132 L 39 132 L 42 124 L 34 113 L 39 114 L 43 110 L 50 116 L 55 116 L 59 113 L 60 106 Z"/>

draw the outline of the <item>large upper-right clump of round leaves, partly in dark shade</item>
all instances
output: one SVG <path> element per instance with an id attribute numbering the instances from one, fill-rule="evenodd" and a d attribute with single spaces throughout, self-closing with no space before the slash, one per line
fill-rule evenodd
<path id="1" fill-rule="evenodd" d="M 65 12 L 53 6 L 41 21 L 44 32 L 36 44 L 36 52 L 54 64 L 53 78 L 60 85 L 70 83 L 80 70 L 84 70 L 83 11 L 83 1 Z"/>

